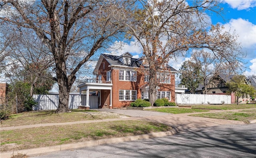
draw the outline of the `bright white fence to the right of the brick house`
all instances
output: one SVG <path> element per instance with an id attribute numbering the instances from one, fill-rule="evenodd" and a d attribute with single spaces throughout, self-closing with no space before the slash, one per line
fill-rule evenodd
<path id="1" fill-rule="evenodd" d="M 210 94 L 176 94 L 176 104 L 220 104 L 221 101 L 231 103 L 231 96 Z"/>

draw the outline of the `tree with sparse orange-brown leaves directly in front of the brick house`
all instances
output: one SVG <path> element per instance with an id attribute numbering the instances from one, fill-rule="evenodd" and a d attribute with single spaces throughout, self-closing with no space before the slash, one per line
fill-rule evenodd
<path id="1" fill-rule="evenodd" d="M 185 55 L 189 49 L 209 49 L 229 63 L 242 60 L 237 36 L 224 32 L 220 25 L 210 26 L 208 23 L 206 11 L 221 13 L 218 1 L 194 0 L 191 4 L 185 0 L 139 2 L 142 7 L 129 12 L 133 18 L 126 25 L 129 27 L 127 33 L 139 41 L 148 60 L 151 105 L 156 100 L 157 70 L 170 59 Z"/>

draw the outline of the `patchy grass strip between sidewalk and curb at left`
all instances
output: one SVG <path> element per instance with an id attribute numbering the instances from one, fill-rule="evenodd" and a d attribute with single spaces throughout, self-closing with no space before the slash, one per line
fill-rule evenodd
<path id="1" fill-rule="evenodd" d="M 168 131 L 149 121 L 112 121 L 1 131 L 0 152 Z"/>

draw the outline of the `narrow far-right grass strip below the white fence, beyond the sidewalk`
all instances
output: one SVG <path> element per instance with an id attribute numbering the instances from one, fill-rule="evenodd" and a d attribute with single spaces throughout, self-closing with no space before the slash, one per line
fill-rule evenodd
<path id="1" fill-rule="evenodd" d="M 233 109 L 250 109 L 256 108 L 256 104 L 239 104 L 239 105 L 192 105 L 192 108 L 206 108 L 206 109 L 223 109 L 223 110 L 233 110 Z"/>

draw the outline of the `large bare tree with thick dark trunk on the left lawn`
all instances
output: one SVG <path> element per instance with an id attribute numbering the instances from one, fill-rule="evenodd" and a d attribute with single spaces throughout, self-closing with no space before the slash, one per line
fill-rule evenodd
<path id="1" fill-rule="evenodd" d="M 68 112 L 68 96 L 76 72 L 124 27 L 129 1 L 41 0 L 1 2 L 13 12 L 0 19 L 31 29 L 50 50 L 59 86 L 56 112 Z"/>

